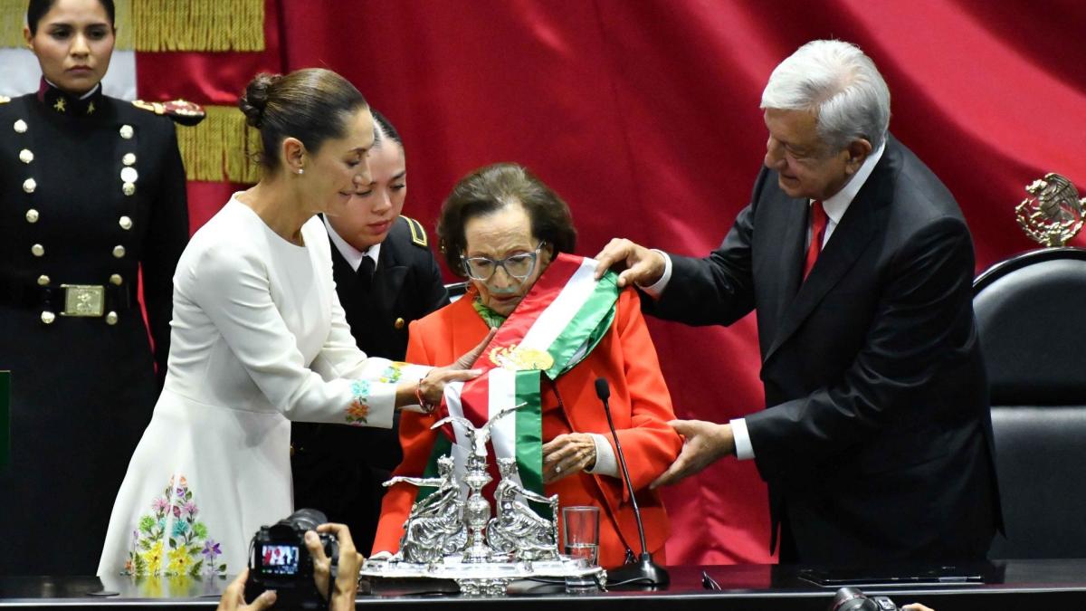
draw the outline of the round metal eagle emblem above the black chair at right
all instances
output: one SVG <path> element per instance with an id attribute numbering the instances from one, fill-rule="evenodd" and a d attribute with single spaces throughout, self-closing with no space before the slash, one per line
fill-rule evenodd
<path id="1" fill-rule="evenodd" d="M 1031 196 L 1014 208 L 1019 225 L 1025 235 L 1046 247 L 1060 247 L 1083 228 L 1086 198 L 1071 180 L 1048 173 L 1025 188 Z"/>

